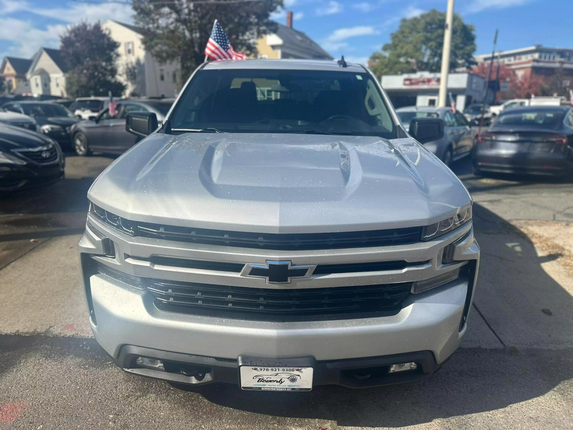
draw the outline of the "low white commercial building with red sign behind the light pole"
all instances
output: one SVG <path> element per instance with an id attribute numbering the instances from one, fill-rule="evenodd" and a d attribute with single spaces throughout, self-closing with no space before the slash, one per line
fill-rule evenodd
<path id="1" fill-rule="evenodd" d="M 438 104 L 439 73 L 417 72 L 382 76 L 382 87 L 395 108 L 404 106 L 435 106 Z M 485 80 L 473 73 L 450 73 L 448 92 L 452 93 L 456 108 L 463 111 L 472 103 L 481 103 L 485 96 Z M 492 97 L 488 93 L 488 100 Z"/>

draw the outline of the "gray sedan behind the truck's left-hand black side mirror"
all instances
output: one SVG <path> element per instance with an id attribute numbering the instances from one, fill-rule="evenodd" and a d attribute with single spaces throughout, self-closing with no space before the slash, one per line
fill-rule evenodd
<path id="1" fill-rule="evenodd" d="M 92 151 L 123 154 L 141 138 L 125 131 L 125 118 L 129 112 L 153 112 L 158 122 L 167 115 L 172 99 L 119 100 L 115 115 L 109 108 L 101 111 L 95 119 L 81 121 L 72 126 L 73 148 L 77 155 L 89 155 Z"/>

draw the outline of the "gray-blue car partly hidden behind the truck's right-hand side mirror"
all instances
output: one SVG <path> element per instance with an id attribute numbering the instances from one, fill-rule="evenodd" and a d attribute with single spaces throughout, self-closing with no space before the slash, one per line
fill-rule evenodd
<path id="1" fill-rule="evenodd" d="M 446 166 L 473 150 L 472 127 L 460 112 L 452 113 L 449 107 L 403 107 L 396 110 L 398 117 L 409 128 L 413 118 L 440 118 L 444 121 L 444 136 L 441 139 L 424 143 L 424 146 L 437 155 Z"/>

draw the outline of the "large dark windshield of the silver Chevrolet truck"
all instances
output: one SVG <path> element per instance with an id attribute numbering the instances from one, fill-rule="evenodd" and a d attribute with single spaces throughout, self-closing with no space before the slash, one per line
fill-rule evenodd
<path id="1" fill-rule="evenodd" d="M 203 128 L 396 137 L 371 76 L 338 71 L 199 71 L 180 96 L 168 130 Z"/>

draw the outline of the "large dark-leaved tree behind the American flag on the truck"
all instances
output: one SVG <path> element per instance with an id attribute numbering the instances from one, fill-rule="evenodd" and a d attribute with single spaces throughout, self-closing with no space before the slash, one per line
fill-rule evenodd
<path id="1" fill-rule="evenodd" d="M 205 46 L 215 19 L 227 33 L 234 50 L 254 54 L 257 38 L 276 29 L 269 15 L 282 7 L 282 0 L 242 3 L 133 0 L 132 6 L 146 50 L 160 62 L 179 61 L 185 81 L 205 58 Z"/>

